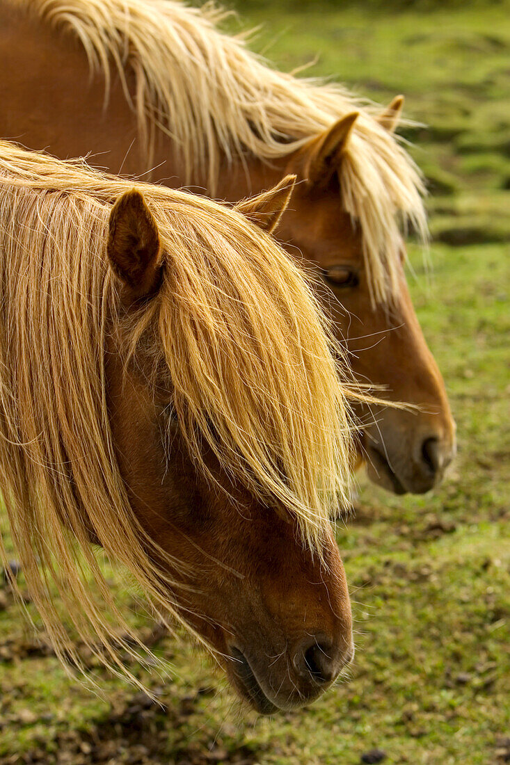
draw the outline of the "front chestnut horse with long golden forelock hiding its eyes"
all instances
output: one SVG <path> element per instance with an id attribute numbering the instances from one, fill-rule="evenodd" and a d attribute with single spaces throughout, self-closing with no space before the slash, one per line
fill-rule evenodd
<path id="1" fill-rule="evenodd" d="M 230 208 L 0 142 L 0 487 L 67 666 L 81 643 L 129 674 L 144 647 L 98 550 L 261 713 L 351 661 L 350 394 L 267 233 L 292 181 Z"/>

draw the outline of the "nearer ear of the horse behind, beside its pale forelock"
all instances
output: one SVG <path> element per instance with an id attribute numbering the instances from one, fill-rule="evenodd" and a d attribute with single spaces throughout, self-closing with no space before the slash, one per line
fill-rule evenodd
<path id="1" fill-rule="evenodd" d="M 359 112 L 342 117 L 305 148 L 302 171 L 310 186 L 325 186 L 338 170 Z"/>

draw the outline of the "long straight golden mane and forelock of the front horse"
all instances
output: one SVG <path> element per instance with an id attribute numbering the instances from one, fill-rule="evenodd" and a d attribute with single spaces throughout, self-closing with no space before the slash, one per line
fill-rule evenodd
<path id="1" fill-rule="evenodd" d="M 212 448 L 253 496 L 293 514 L 319 553 L 349 470 L 344 391 L 322 314 L 289 257 L 236 210 L 137 184 L 159 226 L 163 280 L 123 324 L 106 237 L 113 203 L 131 187 L 83 161 L 0 142 L 0 486 L 11 537 L 60 657 L 80 664 L 54 592 L 89 648 L 119 671 L 119 650 L 132 653 L 136 636 L 90 539 L 156 612 L 176 612 L 174 585 L 153 563 L 164 553 L 136 521 L 119 473 L 109 338 L 127 337 L 117 348 L 126 364 L 142 343 L 149 366 L 168 370 L 168 405 L 198 470 L 207 472 Z"/>

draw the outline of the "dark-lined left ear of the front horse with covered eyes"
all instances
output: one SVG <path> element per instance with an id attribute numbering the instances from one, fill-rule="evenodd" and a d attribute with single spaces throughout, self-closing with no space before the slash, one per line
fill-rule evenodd
<path id="1" fill-rule="evenodd" d="M 135 188 L 121 194 L 113 205 L 106 253 L 132 301 L 158 290 L 161 282 L 158 226 Z"/>

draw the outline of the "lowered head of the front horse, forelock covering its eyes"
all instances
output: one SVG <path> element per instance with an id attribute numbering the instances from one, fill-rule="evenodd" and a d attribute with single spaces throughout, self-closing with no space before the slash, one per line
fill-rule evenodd
<path id="1" fill-rule="evenodd" d="M 284 179 L 244 202 L 244 213 L 270 230 L 291 189 L 292 179 Z M 253 227 L 239 226 L 242 216 L 232 214 L 235 250 L 224 235 L 232 262 L 224 258 L 218 270 L 204 253 L 201 269 L 191 270 L 178 264 L 179 243 L 169 242 L 168 227 L 165 232 L 156 223 L 142 194 L 134 190 L 117 200 L 107 252 L 121 315 L 106 356 L 107 391 L 129 503 L 157 542 L 176 613 L 213 647 L 241 695 L 270 713 L 311 701 L 353 654 L 334 535 L 320 519 L 315 534 L 314 519 L 300 517 L 303 500 L 291 496 L 293 485 L 309 479 L 299 479 L 288 464 L 299 457 L 296 448 L 305 448 L 305 430 L 306 448 L 313 441 L 316 447 L 309 428 L 324 433 L 326 410 L 338 415 L 337 383 L 330 360 L 329 374 L 317 368 L 325 347 L 320 350 L 309 298 L 299 295 L 296 269 L 282 256 L 284 273 L 270 277 L 276 248 L 264 236 L 265 256 L 250 254 Z M 192 225 L 187 236 L 196 236 Z M 213 297 L 218 291 L 220 300 Z M 260 317 L 250 315 L 257 306 L 265 308 Z M 220 309 L 226 319 L 214 314 Z M 126 356 L 133 325 L 140 323 L 146 337 Z M 305 327 L 308 337 L 298 340 Z M 278 340 L 281 330 L 286 337 Z M 277 347 L 283 341 L 286 350 Z M 303 367 L 297 373 L 286 367 L 299 366 L 302 353 L 305 376 Z M 313 396 L 326 405 L 317 409 Z M 312 453 L 299 458 L 301 476 L 312 459 Z"/>

